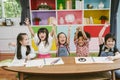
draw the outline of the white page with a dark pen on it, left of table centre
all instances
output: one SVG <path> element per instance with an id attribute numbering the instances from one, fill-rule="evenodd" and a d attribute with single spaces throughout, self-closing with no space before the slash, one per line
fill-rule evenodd
<path id="1" fill-rule="evenodd" d="M 57 58 L 45 58 L 44 61 L 45 65 L 59 65 L 59 64 L 64 64 L 62 58 L 57 57 Z"/>

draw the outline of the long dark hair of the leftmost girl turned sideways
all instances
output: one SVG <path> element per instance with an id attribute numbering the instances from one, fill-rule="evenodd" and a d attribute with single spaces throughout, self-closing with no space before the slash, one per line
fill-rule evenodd
<path id="1" fill-rule="evenodd" d="M 27 34 L 26 33 L 19 33 L 17 36 L 17 59 L 22 58 L 20 41 L 23 40 L 23 35 L 27 35 Z M 31 49 L 30 49 L 29 45 L 27 45 L 26 48 L 27 48 L 26 55 L 28 55 L 28 54 L 30 54 Z"/>

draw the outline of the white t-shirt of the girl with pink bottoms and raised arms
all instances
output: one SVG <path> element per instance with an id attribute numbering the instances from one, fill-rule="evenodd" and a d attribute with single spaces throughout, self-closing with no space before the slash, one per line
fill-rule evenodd
<path id="1" fill-rule="evenodd" d="M 38 53 L 40 53 L 40 54 L 50 53 L 50 49 L 52 46 L 52 39 L 53 39 L 53 37 L 49 34 L 49 36 L 48 36 L 48 43 L 49 44 L 47 44 L 45 46 L 44 41 L 41 41 L 41 43 L 38 45 L 39 38 L 38 38 L 37 34 L 35 34 L 34 41 L 35 41 L 36 45 L 38 45 Z"/>

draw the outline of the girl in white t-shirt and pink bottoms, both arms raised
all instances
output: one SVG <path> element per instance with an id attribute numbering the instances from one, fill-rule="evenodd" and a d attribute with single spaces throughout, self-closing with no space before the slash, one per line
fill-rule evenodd
<path id="1" fill-rule="evenodd" d="M 52 28 L 52 31 L 49 33 L 47 28 L 40 28 L 35 34 L 30 26 L 29 19 L 27 18 L 25 20 L 25 23 L 31 32 L 32 36 L 34 37 L 34 41 L 36 45 L 38 46 L 38 58 L 49 58 L 50 55 L 50 49 L 52 46 L 52 39 L 54 35 L 54 28 Z"/>

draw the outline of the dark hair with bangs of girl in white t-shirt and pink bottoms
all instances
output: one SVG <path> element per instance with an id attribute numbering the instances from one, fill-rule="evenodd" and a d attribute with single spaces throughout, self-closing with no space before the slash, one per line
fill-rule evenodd
<path id="1" fill-rule="evenodd" d="M 41 39 L 40 39 L 40 37 L 39 37 L 39 34 L 40 34 L 40 33 L 46 33 L 46 38 L 45 38 L 45 46 L 46 46 L 47 44 L 49 44 L 49 42 L 48 42 L 49 31 L 48 31 L 46 28 L 40 28 L 40 29 L 38 30 L 38 33 L 37 33 L 37 36 L 38 36 L 38 38 L 39 38 L 38 45 L 41 43 Z"/>

